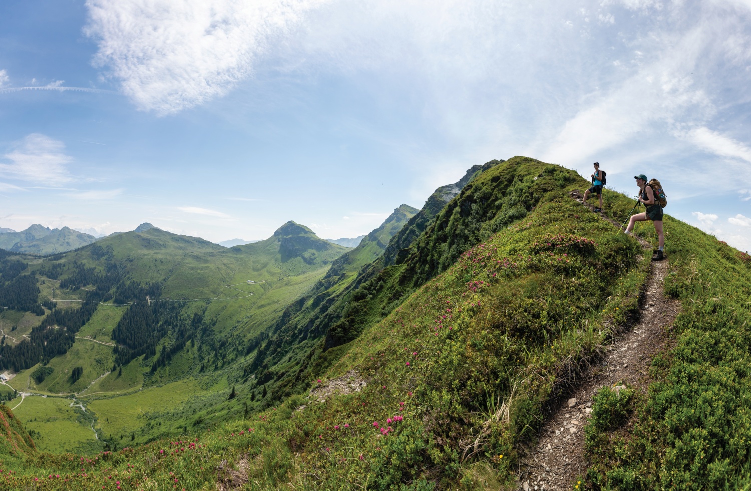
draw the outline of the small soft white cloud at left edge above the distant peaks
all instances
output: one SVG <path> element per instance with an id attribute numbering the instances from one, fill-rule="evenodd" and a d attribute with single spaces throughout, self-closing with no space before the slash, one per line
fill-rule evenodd
<path id="1" fill-rule="evenodd" d="M 67 166 L 73 158 L 65 155 L 64 150 L 65 144 L 59 140 L 44 134 L 29 134 L 16 149 L 3 155 L 11 163 L 0 163 L 0 176 L 59 187 L 71 181 Z"/>

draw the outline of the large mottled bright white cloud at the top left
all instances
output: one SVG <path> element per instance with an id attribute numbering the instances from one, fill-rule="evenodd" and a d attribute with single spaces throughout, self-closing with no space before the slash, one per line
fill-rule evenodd
<path id="1" fill-rule="evenodd" d="M 175 113 L 252 74 L 270 38 L 328 0 L 88 0 L 85 32 L 141 110 Z"/>

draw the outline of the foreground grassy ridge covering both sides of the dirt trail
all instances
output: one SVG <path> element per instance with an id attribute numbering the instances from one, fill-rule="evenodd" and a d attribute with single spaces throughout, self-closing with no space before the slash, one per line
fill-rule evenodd
<path id="1" fill-rule="evenodd" d="M 365 308 L 351 341 L 318 351 L 303 372 L 312 344 L 279 359 L 281 377 L 268 379 L 269 387 L 297 374 L 300 387 L 313 389 L 310 398 L 292 394 L 247 414 L 243 403 L 261 385 L 238 384 L 229 401 L 231 383 L 216 373 L 184 392 L 153 387 L 134 394 L 144 399 L 131 400 L 122 422 L 106 422 L 108 431 L 126 445 L 128 429 L 144 421 L 150 435 L 181 436 L 83 460 L 29 452 L 23 465 L 4 464 L 14 474 L 0 474 L 0 482 L 11 489 L 113 488 L 115 480 L 121 489 L 216 489 L 237 463 L 251 489 L 514 488 L 517 449 L 541 423 L 544 405 L 637 315 L 650 258 L 571 200 L 567 191 L 586 182 L 559 167 L 515 158 L 474 183 L 413 249 L 360 284 L 378 280 L 354 299 Z M 617 221 L 632 206 L 613 192 L 605 202 Z M 655 361 L 648 396 L 597 396 L 586 486 L 743 489 L 751 484 L 751 260 L 670 217 L 665 227 L 665 291 L 683 300 L 676 347 Z M 648 223 L 636 233 L 656 239 Z M 195 366 L 192 356 L 186 347 L 175 369 Z M 366 385 L 329 393 L 348 381 Z M 216 390 L 185 402 L 201 384 Z M 173 393 L 183 402 L 177 394 L 167 404 L 173 409 L 155 408 Z M 204 432 L 209 411 L 215 419 Z"/>

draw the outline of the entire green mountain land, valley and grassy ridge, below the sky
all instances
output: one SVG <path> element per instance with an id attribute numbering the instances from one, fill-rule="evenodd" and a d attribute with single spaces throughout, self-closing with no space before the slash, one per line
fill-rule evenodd
<path id="1" fill-rule="evenodd" d="M 658 267 L 589 185 L 517 156 L 354 248 L 2 251 L 2 489 L 746 489 L 751 258 L 665 215 Z"/>

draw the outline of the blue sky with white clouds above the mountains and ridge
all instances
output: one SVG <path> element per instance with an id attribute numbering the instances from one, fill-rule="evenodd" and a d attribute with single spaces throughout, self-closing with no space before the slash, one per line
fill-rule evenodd
<path id="1" fill-rule="evenodd" d="M 528 155 L 749 250 L 749 87 L 751 0 L 8 0 L 0 227 L 353 237 Z"/>

